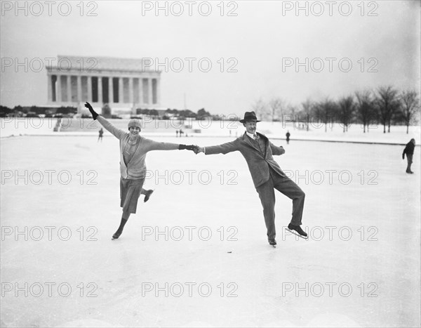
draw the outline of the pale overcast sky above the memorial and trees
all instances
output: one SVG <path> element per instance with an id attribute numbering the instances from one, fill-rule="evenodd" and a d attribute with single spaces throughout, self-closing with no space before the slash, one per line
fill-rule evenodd
<path id="1" fill-rule="evenodd" d="M 389 84 L 420 90 L 420 1 L 300 1 L 298 12 L 296 1 L 160 1 L 167 12 L 156 1 L 19 4 L 1 1 L 0 103 L 9 107 L 47 103 L 46 69 L 32 72 L 33 59 L 57 55 L 153 58 L 152 68 L 168 58 L 162 106 L 182 109 L 186 94 L 190 110 L 213 114 L 242 114 L 260 97 L 298 105 Z"/>

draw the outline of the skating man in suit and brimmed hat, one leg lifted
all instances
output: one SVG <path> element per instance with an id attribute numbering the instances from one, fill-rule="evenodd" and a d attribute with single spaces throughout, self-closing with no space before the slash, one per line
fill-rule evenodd
<path id="1" fill-rule="evenodd" d="M 307 237 L 307 233 L 300 227 L 305 193 L 283 173 L 272 156 L 282 155 L 285 150 L 283 150 L 283 147 L 273 145 L 261 133 L 256 133 L 256 126 L 260 121 L 258 121 L 255 112 L 246 112 L 244 119 L 241 119 L 240 122 L 246 128 L 243 136 L 231 143 L 223 143 L 212 147 L 197 147 L 195 152 L 204 152 L 205 155 L 225 155 L 237 150 L 241 152 L 241 155 L 246 159 L 260 202 L 262 202 L 269 244 L 276 245 L 274 189 L 293 199 L 293 218 L 288 225 L 288 229 L 295 230 L 300 236 Z"/>

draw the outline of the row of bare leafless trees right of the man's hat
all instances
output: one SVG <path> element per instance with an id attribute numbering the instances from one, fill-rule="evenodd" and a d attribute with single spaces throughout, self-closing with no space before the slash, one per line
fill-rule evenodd
<path id="1" fill-rule="evenodd" d="M 259 118 L 267 121 L 302 122 L 309 130 L 311 122 L 325 125 L 339 123 L 346 132 L 350 124 L 363 125 L 363 132 L 370 124 L 382 124 L 383 133 L 390 132 L 391 125 L 409 126 L 420 122 L 420 98 L 417 91 L 399 91 L 394 86 L 380 86 L 375 90 L 366 88 L 336 100 L 324 98 L 313 101 L 309 98 L 300 105 L 290 105 L 280 97 L 268 101 L 262 98 L 251 106 Z"/>

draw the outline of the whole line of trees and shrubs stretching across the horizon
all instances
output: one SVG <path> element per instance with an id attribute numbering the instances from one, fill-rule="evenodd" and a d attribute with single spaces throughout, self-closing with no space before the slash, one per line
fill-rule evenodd
<path id="1" fill-rule="evenodd" d="M 404 90 L 399 91 L 394 86 L 380 86 L 375 90 L 364 89 L 356 91 L 348 96 L 342 96 L 336 100 L 332 98 L 324 98 L 323 100 L 314 101 L 309 98 L 300 103 L 300 105 L 290 105 L 281 97 L 274 97 L 268 101 L 262 98 L 256 100 L 251 105 L 259 119 L 265 121 L 282 121 L 282 122 L 300 122 L 304 129 L 309 130 L 310 123 L 324 124 L 327 131 L 328 124 L 339 123 L 346 132 L 350 124 L 359 123 L 363 126 L 363 132 L 368 132 L 370 124 L 382 124 L 383 133 L 390 132 L 391 125 L 406 125 L 406 133 L 409 126 L 420 122 L 420 98 L 417 91 Z M 112 115 L 112 110 L 108 104 L 102 107 L 105 115 L 118 118 Z M 22 107 L 15 106 L 13 109 L 0 105 L 0 117 L 8 115 L 27 116 L 28 113 L 34 115 L 46 114 L 46 117 L 60 115 L 76 114 L 76 107 L 59 107 L 55 113 L 51 113 L 48 107 Z M 229 119 L 232 121 L 240 119 L 229 115 L 225 117 L 222 114 L 210 114 L 204 108 L 196 112 L 192 110 L 177 110 L 168 108 L 165 111 L 154 109 L 136 110 L 136 114 L 149 115 L 156 119 Z M 82 117 L 90 117 L 83 114 Z M 386 129 L 387 128 L 387 129 Z"/>

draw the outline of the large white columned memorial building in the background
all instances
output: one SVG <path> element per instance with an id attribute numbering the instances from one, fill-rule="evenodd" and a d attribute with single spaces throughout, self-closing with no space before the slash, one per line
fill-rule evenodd
<path id="1" fill-rule="evenodd" d="M 108 104 L 112 113 L 136 114 L 160 104 L 161 72 L 145 69 L 143 59 L 58 56 L 47 66 L 48 103 L 73 106 L 85 112 Z"/>

